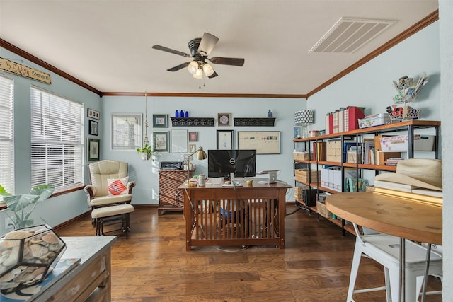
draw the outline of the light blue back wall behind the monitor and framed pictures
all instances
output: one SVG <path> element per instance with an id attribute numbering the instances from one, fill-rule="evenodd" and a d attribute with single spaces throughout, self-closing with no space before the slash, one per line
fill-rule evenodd
<path id="1" fill-rule="evenodd" d="M 189 79 L 190 80 L 190 79 Z M 195 81 L 194 81 L 195 84 Z M 207 83 L 209 85 L 209 83 Z M 154 161 L 142 161 L 136 151 L 112 151 L 110 148 L 110 116 L 112 113 L 142 113 L 144 119 L 145 98 L 126 96 L 107 96 L 101 100 L 101 157 L 127 161 L 130 164 L 130 179 L 137 182 L 133 190 L 133 204 L 159 203 L 159 162 L 183 161 L 185 153 L 155 153 Z M 292 139 L 294 128 L 294 110 L 304 109 L 306 100 L 299 98 L 171 98 L 147 97 L 148 137 L 151 141 L 153 131 L 168 131 L 171 137 L 172 129 L 187 129 L 198 132 L 197 148 L 202 146 L 205 151 L 217 149 L 216 131 L 234 130 L 234 148 L 237 147 L 238 131 L 280 131 L 281 153 L 259 154 L 256 169 L 280 170 L 279 180 L 294 185 L 292 161 Z M 168 114 L 174 117 L 175 110 L 187 110 L 190 117 L 215 117 L 214 127 L 172 127 L 168 120 L 168 128 L 153 128 L 153 114 Z M 217 127 L 217 113 L 231 113 L 234 117 L 267 117 L 268 110 L 275 117 L 275 127 Z M 191 143 L 192 144 L 192 143 Z M 170 150 L 171 151 L 171 150 Z M 192 162 L 192 161 L 191 161 Z M 195 173 L 207 174 L 207 161 L 193 161 L 197 165 Z M 292 190 L 288 191 L 287 200 L 294 200 Z"/>

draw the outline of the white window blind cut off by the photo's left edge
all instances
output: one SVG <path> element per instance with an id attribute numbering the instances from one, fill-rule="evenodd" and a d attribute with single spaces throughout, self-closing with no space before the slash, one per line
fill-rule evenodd
<path id="1" fill-rule="evenodd" d="M 0 76 L 0 184 L 11 194 L 14 194 L 13 102 L 14 81 Z"/>

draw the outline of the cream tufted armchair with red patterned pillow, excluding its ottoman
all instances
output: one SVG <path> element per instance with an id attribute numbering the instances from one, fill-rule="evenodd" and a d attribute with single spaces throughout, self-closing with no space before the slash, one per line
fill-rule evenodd
<path id="1" fill-rule="evenodd" d="M 91 185 L 86 185 L 84 189 L 88 195 L 88 207 L 96 209 L 113 204 L 130 204 L 135 182 L 128 181 L 127 163 L 96 161 L 88 165 L 88 172 Z"/>

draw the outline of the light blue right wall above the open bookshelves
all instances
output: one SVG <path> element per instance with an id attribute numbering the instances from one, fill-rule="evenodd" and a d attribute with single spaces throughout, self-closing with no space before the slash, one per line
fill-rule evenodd
<path id="1" fill-rule="evenodd" d="M 338 59 L 348 54 L 338 54 Z M 401 76 L 430 76 L 413 108 L 421 118 L 440 120 L 439 23 L 435 22 L 359 69 L 324 88 L 308 99 L 308 108 L 316 110 L 314 129 L 324 129 L 326 113 L 348 105 L 366 107 L 365 115 L 383 113 L 393 105 L 396 89 L 392 81 Z"/>

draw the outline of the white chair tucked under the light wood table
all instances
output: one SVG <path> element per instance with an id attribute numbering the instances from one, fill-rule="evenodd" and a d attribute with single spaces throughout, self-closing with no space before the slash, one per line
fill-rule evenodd
<path id="1" fill-rule="evenodd" d="M 350 274 L 348 297 L 346 301 L 354 301 L 352 294 L 369 291 L 386 291 L 386 301 L 399 301 L 399 245 L 400 238 L 373 234 L 361 235 L 357 225 L 353 223 L 357 238 L 355 240 L 354 257 Z M 420 289 L 425 274 L 425 259 L 427 249 L 422 245 L 406 240 L 405 293 L 406 301 L 418 301 Z M 362 256 L 372 258 L 384 266 L 385 286 L 373 289 L 354 290 L 355 279 Z M 442 255 L 431 251 L 429 274 L 442 274 Z"/>

